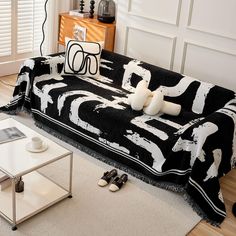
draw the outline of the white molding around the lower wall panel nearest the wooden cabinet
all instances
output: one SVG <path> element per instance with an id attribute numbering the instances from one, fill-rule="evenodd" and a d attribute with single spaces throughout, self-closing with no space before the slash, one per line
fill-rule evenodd
<path id="1" fill-rule="evenodd" d="M 175 48 L 176 48 L 176 40 L 177 37 L 176 36 L 170 36 L 170 35 L 166 35 L 166 34 L 161 34 L 161 33 L 157 33 L 157 32 L 152 32 L 152 31 L 148 31 L 146 29 L 143 28 L 137 28 L 137 27 L 133 27 L 133 26 L 127 26 L 126 30 L 125 30 L 125 47 L 124 47 L 124 55 L 127 56 L 127 51 L 128 51 L 128 38 L 129 38 L 129 31 L 130 30 L 136 30 L 136 31 L 141 31 L 147 34 L 152 34 L 154 36 L 158 36 L 158 37 L 162 37 L 162 38 L 166 38 L 168 40 L 172 41 L 172 45 L 171 45 L 171 54 L 170 54 L 170 61 L 169 61 L 169 70 L 173 70 L 173 66 L 174 66 L 174 58 L 175 58 Z"/>

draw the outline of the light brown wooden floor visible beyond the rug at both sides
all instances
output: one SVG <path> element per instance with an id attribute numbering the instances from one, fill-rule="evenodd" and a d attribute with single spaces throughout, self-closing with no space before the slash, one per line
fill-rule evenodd
<path id="1" fill-rule="evenodd" d="M 0 80 L 14 85 L 16 75 L 0 77 Z M 13 89 L 13 87 L 0 83 L 0 105 L 9 102 Z M 220 182 L 227 210 L 226 219 L 220 228 L 201 221 L 188 236 L 236 236 L 236 217 L 231 211 L 233 203 L 236 202 L 236 169 L 222 177 Z"/>

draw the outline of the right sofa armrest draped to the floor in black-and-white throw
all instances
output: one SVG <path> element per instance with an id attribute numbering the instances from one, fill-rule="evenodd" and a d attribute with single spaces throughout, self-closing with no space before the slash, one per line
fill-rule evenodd
<path id="1" fill-rule="evenodd" d="M 236 164 L 236 99 L 192 123 L 176 134 L 173 151 L 184 151 L 182 158 L 189 161 L 188 196 L 205 205 L 208 218 L 221 222 L 226 212 L 219 179 Z"/>

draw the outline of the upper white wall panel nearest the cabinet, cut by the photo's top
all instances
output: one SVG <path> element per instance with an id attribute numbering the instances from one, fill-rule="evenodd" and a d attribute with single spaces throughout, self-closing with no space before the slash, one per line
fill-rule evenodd
<path id="1" fill-rule="evenodd" d="M 177 24 L 180 4 L 180 0 L 129 0 L 129 12 L 148 19 Z"/>

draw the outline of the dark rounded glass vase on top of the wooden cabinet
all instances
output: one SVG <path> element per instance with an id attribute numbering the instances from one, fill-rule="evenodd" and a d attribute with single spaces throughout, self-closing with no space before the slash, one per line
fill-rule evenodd
<path id="1" fill-rule="evenodd" d="M 115 21 L 116 5 L 113 0 L 101 0 L 98 5 L 98 20 L 103 23 Z"/>

